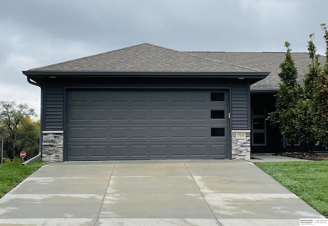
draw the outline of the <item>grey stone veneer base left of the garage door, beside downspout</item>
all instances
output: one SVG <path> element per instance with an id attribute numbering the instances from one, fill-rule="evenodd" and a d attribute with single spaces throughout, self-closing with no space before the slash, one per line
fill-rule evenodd
<path id="1" fill-rule="evenodd" d="M 64 131 L 42 131 L 42 160 L 64 161 Z"/>

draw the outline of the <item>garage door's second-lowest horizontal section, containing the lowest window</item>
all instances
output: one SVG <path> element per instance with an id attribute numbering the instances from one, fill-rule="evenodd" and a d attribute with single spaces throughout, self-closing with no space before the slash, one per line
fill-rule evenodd
<path id="1" fill-rule="evenodd" d="M 212 129 L 214 129 L 214 131 L 212 131 Z M 219 129 L 219 131 L 217 132 L 215 129 Z M 224 130 L 224 132 L 221 130 Z M 208 124 L 206 126 L 190 126 L 185 124 L 163 124 L 161 126 L 117 124 L 113 126 L 103 126 L 102 124 L 90 124 L 87 126 L 69 126 L 68 132 L 68 140 L 105 139 L 126 141 L 138 139 L 145 142 L 149 139 L 206 139 L 219 141 L 226 140 L 228 135 L 224 127 L 217 127 L 216 124 Z"/>

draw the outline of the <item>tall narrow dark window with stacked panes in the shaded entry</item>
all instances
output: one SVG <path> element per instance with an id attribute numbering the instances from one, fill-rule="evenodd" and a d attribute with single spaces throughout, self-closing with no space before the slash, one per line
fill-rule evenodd
<path id="1" fill-rule="evenodd" d="M 263 104 L 254 104 L 252 108 L 252 145 L 267 145 L 267 129 L 265 124 L 265 108 Z"/>

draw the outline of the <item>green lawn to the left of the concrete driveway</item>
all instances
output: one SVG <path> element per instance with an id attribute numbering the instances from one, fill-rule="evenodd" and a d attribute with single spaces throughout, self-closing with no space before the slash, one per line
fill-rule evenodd
<path id="1" fill-rule="evenodd" d="M 0 164 L 0 198 L 46 163 L 38 160 L 25 166 L 21 164 L 20 161 Z"/>

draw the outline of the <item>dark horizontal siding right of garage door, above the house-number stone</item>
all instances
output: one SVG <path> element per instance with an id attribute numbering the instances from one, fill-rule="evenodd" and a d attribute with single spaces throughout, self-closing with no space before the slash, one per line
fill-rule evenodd
<path id="1" fill-rule="evenodd" d="M 249 93 L 247 83 L 232 85 L 231 105 L 232 105 L 232 129 L 249 129 L 248 106 Z"/>

